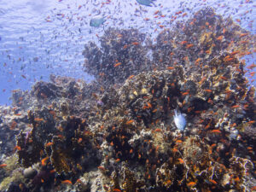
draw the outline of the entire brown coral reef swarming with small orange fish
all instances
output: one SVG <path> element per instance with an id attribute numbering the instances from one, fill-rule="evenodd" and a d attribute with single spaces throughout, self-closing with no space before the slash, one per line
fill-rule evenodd
<path id="1" fill-rule="evenodd" d="M 207 8 L 155 44 L 135 29 L 100 41 L 83 53 L 96 81 L 51 76 L 0 108 L 1 153 L 18 155 L 0 159 L 1 190 L 253 189 L 255 88 L 240 57 L 255 36 Z"/>

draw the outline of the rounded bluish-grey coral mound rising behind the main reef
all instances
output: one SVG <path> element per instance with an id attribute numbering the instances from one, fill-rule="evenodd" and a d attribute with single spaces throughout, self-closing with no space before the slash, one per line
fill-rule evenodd
<path id="1" fill-rule="evenodd" d="M 84 46 L 85 72 L 94 75 L 100 84 L 123 83 L 150 66 L 144 40 L 145 35 L 136 29 L 109 28 L 100 38 L 102 49 L 93 42 Z"/>

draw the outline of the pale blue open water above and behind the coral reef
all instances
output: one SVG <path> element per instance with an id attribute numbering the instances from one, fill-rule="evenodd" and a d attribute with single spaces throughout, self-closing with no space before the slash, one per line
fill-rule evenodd
<path id="1" fill-rule="evenodd" d="M 155 38 L 160 32 L 158 22 L 170 26 L 177 11 L 189 18 L 211 6 L 219 15 L 240 19 L 240 26 L 255 34 L 256 3 L 245 2 L 157 0 L 156 6 L 146 7 L 136 0 L 0 0 L 0 105 L 11 103 L 12 90 L 29 90 L 36 81 L 49 81 L 51 73 L 90 82 L 93 77 L 83 72 L 84 44 L 97 42 L 97 35 L 109 26 L 138 28 L 148 38 Z M 154 18 L 157 10 L 166 17 Z M 107 18 L 99 28 L 90 26 L 96 15 Z M 246 60 L 248 65 L 255 63 L 255 53 Z"/>

